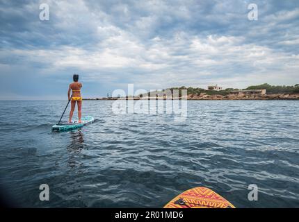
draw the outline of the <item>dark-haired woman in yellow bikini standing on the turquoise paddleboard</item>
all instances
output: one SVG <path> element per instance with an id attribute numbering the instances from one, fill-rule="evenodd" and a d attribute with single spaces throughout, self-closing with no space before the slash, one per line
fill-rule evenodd
<path id="1" fill-rule="evenodd" d="M 69 101 L 70 101 L 70 99 L 72 100 L 71 101 L 71 111 L 70 111 L 69 123 L 72 122 L 72 116 L 73 116 L 74 108 L 75 108 L 76 104 L 78 106 L 79 123 L 81 123 L 81 108 L 82 108 L 81 87 L 82 87 L 82 83 L 78 82 L 79 75 L 74 74 L 73 80 L 74 80 L 74 83 L 70 84 L 69 91 L 67 92 L 67 96 L 69 98 Z M 72 90 L 72 96 L 70 96 L 71 90 Z"/>

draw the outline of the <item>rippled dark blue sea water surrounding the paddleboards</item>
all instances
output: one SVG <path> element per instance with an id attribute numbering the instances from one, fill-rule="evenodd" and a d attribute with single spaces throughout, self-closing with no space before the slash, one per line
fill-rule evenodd
<path id="1" fill-rule="evenodd" d="M 163 207 L 204 186 L 236 207 L 299 207 L 299 101 L 188 101 L 180 122 L 83 101 L 95 123 L 52 132 L 65 105 L 0 101 L 0 187 L 13 204 Z"/>

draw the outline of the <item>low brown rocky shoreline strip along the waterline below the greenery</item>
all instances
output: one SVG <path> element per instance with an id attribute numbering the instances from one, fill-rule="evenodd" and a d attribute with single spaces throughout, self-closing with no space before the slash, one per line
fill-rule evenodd
<path id="1" fill-rule="evenodd" d="M 95 99 L 83 99 L 83 100 L 117 100 L 117 99 L 128 99 L 128 98 L 117 98 L 117 97 L 110 97 L 110 98 L 95 98 Z M 129 98 L 131 100 L 133 98 Z M 140 99 L 151 99 L 149 97 L 147 98 L 139 98 L 134 97 L 134 100 L 140 100 Z M 165 97 L 157 97 L 156 99 L 166 99 Z M 179 98 L 181 99 L 181 98 Z M 188 94 L 187 96 L 188 100 L 299 100 L 299 94 L 265 94 L 265 95 L 242 95 L 242 96 L 236 96 L 232 94 L 228 95 L 209 95 L 209 94 Z"/>

